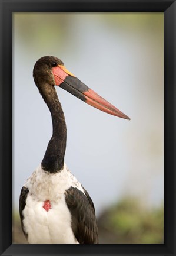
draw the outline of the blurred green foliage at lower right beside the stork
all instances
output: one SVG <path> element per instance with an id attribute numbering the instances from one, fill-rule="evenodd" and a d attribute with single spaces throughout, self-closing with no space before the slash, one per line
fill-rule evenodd
<path id="1" fill-rule="evenodd" d="M 108 244 L 162 244 L 163 205 L 145 209 L 138 199 L 123 199 L 98 219 L 99 242 Z"/>

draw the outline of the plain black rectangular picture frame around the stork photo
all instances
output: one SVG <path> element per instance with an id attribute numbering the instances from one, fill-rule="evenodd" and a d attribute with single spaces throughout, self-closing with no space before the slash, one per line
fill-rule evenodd
<path id="1" fill-rule="evenodd" d="M 1 255 L 176 255 L 173 0 L 1 0 Z M 12 12 L 164 12 L 164 244 L 12 244 Z"/>

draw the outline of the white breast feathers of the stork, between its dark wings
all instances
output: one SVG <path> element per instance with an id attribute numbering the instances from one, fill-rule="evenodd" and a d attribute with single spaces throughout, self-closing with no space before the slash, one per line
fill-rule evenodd
<path id="1" fill-rule="evenodd" d="M 64 192 L 69 187 L 77 187 L 83 193 L 78 180 L 67 166 L 56 174 L 47 174 L 41 166 L 24 184 L 29 193 L 22 212 L 24 231 L 32 244 L 75 244 L 78 243 L 71 228 L 71 213 L 65 203 Z M 51 203 L 48 212 L 43 208 L 45 200 Z"/>

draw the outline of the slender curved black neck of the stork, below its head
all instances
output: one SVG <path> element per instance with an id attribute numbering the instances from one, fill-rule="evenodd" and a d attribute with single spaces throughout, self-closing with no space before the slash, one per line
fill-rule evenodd
<path id="1" fill-rule="evenodd" d="M 54 86 L 42 85 L 39 92 L 51 112 L 52 137 L 48 143 L 47 150 L 42 160 L 42 168 L 49 173 L 56 173 L 64 167 L 64 155 L 66 148 L 67 128 L 64 112 L 58 100 Z"/>

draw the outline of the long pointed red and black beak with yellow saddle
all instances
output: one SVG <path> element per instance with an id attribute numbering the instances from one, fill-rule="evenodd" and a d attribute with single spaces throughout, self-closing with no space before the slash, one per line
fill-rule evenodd
<path id="1" fill-rule="evenodd" d="M 52 67 L 54 74 L 55 85 L 60 86 L 67 92 L 88 103 L 94 108 L 98 108 L 108 114 L 118 116 L 120 118 L 130 119 L 127 115 L 115 108 L 104 98 L 99 96 L 94 90 L 88 88 L 74 74 L 70 73 L 64 66 Z"/>

